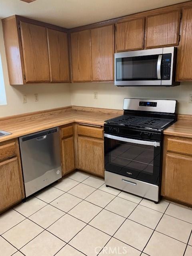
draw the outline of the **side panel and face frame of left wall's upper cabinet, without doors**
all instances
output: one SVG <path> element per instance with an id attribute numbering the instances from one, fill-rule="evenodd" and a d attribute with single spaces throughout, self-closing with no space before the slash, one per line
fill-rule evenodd
<path id="1" fill-rule="evenodd" d="M 20 22 L 33 24 L 36 26 L 49 28 L 52 30 L 57 30 L 60 32 L 67 33 L 67 37 L 69 34 L 69 30 L 66 28 L 61 28 L 59 26 L 54 26 L 52 24 L 48 24 L 45 22 L 39 22 L 37 20 L 32 20 L 29 18 L 25 18 L 18 15 L 13 15 L 8 18 L 4 18 L 2 20 L 3 26 L 3 34 L 4 34 L 4 43 L 6 50 L 6 59 L 8 66 L 8 75 L 9 81 L 11 85 L 19 85 L 26 84 L 26 74 L 25 74 L 25 66 L 24 66 L 24 55 L 23 55 L 23 46 L 22 46 L 22 38 L 20 31 Z M 12 46 L 14 46 L 14 52 L 12 52 Z M 68 47 L 68 55 L 69 55 L 69 47 Z M 50 72 L 50 65 L 49 65 Z M 37 83 L 38 81 L 29 81 L 29 83 Z M 40 81 L 51 83 L 51 81 Z M 54 82 L 54 81 L 53 81 Z M 57 82 L 69 82 L 66 81 L 57 81 Z"/>

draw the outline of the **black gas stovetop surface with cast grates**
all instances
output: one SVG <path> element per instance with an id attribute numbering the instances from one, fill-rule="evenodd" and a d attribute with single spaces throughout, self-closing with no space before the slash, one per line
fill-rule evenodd
<path id="1" fill-rule="evenodd" d="M 129 128 L 143 128 L 143 129 L 155 129 L 164 130 L 174 122 L 174 119 L 160 118 L 160 117 L 148 117 L 148 116 L 134 116 L 134 115 L 122 115 L 105 121 L 108 124 L 116 124 L 119 126 L 126 126 Z"/>

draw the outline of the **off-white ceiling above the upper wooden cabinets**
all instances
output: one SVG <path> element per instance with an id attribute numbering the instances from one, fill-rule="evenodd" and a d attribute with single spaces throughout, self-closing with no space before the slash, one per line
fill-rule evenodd
<path id="1" fill-rule="evenodd" d="M 186 0 L 0 0 L 0 19 L 18 14 L 73 28 Z"/>

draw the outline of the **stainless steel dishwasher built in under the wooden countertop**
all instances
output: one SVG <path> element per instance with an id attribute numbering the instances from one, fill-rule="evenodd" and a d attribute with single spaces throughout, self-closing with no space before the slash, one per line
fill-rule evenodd
<path id="1" fill-rule="evenodd" d="M 19 138 L 26 197 L 62 178 L 59 128 Z"/>

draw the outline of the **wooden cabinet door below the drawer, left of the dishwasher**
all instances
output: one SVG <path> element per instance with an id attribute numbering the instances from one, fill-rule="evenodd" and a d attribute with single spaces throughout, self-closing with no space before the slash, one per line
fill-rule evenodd
<path id="1" fill-rule="evenodd" d="M 0 163 L 0 211 L 22 200 L 18 158 Z"/>

